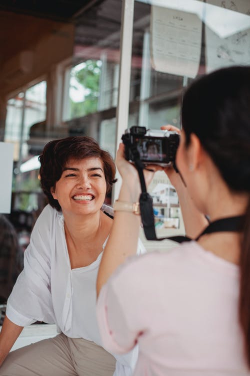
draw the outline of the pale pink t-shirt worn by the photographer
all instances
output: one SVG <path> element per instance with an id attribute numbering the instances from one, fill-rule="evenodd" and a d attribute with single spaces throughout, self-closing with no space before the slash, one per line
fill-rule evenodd
<path id="1" fill-rule="evenodd" d="M 134 375 L 250 375 L 238 324 L 239 268 L 197 243 L 130 258 L 102 287 L 105 348 L 139 344 Z"/>

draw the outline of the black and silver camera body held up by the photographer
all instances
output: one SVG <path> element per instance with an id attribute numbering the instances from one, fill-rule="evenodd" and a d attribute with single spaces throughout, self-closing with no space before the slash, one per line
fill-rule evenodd
<path id="1" fill-rule="evenodd" d="M 168 166 L 174 163 L 179 144 L 179 134 L 169 130 L 146 130 L 132 126 L 121 137 L 125 145 L 125 158 L 134 162 L 131 148 L 136 147 L 140 160 L 145 164 Z"/>

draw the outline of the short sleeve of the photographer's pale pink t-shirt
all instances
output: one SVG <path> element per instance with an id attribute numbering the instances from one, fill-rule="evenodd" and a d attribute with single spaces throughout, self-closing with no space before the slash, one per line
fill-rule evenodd
<path id="1" fill-rule="evenodd" d="M 140 294 L 145 278 L 138 263 L 147 256 L 130 258 L 100 290 L 96 315 L 103 346 L 110 352 L 130 351 L 151 320 L 151 303 Z"/>

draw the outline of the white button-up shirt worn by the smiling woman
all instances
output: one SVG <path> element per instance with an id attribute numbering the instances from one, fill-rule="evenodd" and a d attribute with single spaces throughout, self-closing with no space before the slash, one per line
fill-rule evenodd
<path id="1" fill-rule="evenodd" d="M 102 210 L 112 214 L 107 206 Z M 144 252 L 139 241 L 137 253 Z M 36 320 L 55 323 L 70 338 L 102 345 L 95 314 L 95 285 L 102 253 L 90 265 L 71 269 L 63 215 L 47 205 L 31 233 L 24 269 L 8 298 L 6 316 L 19 326 Z M 115 375 L 131 374 L 137 348 L 125 355 L 113 355 L 118 361 Z"/>

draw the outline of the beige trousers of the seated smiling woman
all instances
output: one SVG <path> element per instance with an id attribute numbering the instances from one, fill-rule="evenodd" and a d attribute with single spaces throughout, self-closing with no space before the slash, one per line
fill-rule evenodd
<path id="1" fill-rule="evenodd" d="M 115 362 L 94 342 L 61 333 L 10 352 L 0 376 L 112 376 Z"/>

